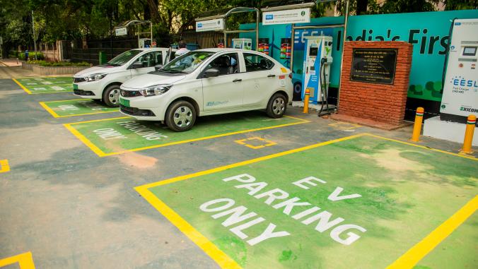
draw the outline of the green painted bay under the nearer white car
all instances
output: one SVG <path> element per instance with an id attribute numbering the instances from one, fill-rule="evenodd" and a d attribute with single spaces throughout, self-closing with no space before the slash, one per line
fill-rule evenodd
<path id="1" fill-rule="evenodd" d="M 271 119 L 264 112 L 246 112 L 197 118 L 190 131 L 174 132 L 158 122 L 136 121 L 131 117 L 86 121 L 71 124 L 81 136 L 90 141 L 90 146 L 100 156 L 121 153 L 124 150 L 157 148 L 170 143 L 184 143 L 252 131 L 257 128 L 276 128 L 306 123 L 302 119 L 284 116 Z"/>

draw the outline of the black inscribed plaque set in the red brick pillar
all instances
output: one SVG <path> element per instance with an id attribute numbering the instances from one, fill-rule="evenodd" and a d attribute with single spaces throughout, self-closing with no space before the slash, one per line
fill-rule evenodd
<path id="1" fill-rule="evenodd" d="M 393 84 L 397 49 L 353 49 L 350 80 Z"/>

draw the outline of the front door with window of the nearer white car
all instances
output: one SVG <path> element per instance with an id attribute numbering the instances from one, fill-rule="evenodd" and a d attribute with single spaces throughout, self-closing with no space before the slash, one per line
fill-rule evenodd
<path id="1" fill-rule="evenodd" d="M 243 106 L 243 74 L 238 56 L 237 53 L 218 55 L 204 68 L 204 71 L 219 70 L 217 77 L 202 78 L 204 112 L 233 111 Z"/>

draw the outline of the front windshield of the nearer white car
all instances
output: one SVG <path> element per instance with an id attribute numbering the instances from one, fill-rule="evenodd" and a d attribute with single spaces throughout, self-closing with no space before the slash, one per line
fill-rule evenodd
<path id="1" fill-rule="evenodd" d="M 159 72 L 165 73 L 191 73 L 205 59 L 208 59 L 214 52 L 188 52 L 178 56 L 166 64 Z"/>

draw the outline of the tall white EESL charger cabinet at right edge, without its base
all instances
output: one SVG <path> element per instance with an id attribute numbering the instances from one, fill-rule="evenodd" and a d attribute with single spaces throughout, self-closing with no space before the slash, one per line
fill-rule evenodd
<path id="1" fill-rule="evenodd" d="M 478 116 L 478 19 L 454 20 L 440 118 L 466 122 Z"/>

